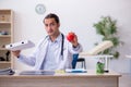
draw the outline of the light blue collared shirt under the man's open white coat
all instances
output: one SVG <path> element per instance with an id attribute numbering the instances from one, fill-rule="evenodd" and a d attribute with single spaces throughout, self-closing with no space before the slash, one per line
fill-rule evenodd
<path id="1" fill-rule="evenodd" d="M 55 41 L 51 41 L 48 37 L 48 47 L 45 60 L 40 70 L 56 70 L 59 66 L 59 62 L 62 61 L 61 59 L 61 40 L 62 35 L 59 35 Z"/>

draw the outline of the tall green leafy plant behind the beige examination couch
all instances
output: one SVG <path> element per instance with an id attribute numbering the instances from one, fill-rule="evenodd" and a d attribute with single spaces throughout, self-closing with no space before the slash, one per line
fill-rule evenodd
<path id="1" fill-rule="evenodd" d="M 117 47 L 122 44 L 117 36 L 117 21 L 112 21 L 110 16 L 103 16 L 98 23 L 94 24 L 96 33 L 102 35 L 102 40 L 111 40 L 114 44 L 112 48 L 103 51 L 103 54 L 112 54 L 115 58 L 119 57 Z"/>

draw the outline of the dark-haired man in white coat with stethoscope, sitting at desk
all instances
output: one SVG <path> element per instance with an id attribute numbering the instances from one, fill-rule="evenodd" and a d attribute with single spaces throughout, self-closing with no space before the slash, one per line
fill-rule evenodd
<path id="1" fill-rule="evenodd" d="M 71 69 L 72 54 L 82 51 L 82 46 L 78 42 L 78 37 L 74 34 L 72 41 L 60 33 L 59 17 L 56 14 L 48 14 L 44 18 L 45 29 L 48 36 L 40 40 L 36 50 L 29 55 L 21 54 L 21 51 L 12 51 L 20 61 L 35 70 L 64 70 Z"/>

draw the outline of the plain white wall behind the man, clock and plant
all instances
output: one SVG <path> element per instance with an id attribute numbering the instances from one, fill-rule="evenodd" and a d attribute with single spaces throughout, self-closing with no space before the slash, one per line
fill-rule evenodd
<path id="1" fill-rule="evenodd" d="M 46 5 L 46 13 L 38 15 L 35 7 L 38 3 Z M 118 21 L 119 37 L 124 46 L 119 48 L 119 60 L 112 60 L 110 69 L 121 73 L 129 73 L 131 69 L 129 60 L 124 57 L 131 54 L 131 0 L 0 0 L 0 9 L 14 11 L 14 41 L 31 39 L 35 44 L 46 36 L 43 18 L 48 13 L 57 13 L 61 20 L 60 30 L 67 34 L 75 32 L 84 51 L 93 48 L 94 42 L 100 41 L 93 24 L 99 21 L 102 15 L 110 15 Z M 24 50 L 24 54 L 33 49 Z M 95 69 L 94 60 L 86 60 L 87 69 Z M 14 61 L 14 67 L 29 70 L 26 65 Z"/>

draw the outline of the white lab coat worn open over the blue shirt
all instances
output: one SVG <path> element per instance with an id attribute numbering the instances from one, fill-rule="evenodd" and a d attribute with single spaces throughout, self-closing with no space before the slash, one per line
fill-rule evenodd
<path id="1" fill-rule="evenodd" d="M 47 38 L 41 39 L 41 41 L 36 47 L 36 50 L 29 57 L 20 54 L 19 60 L 27 65 L 34 66 L 35 70 L 40 70 L 40 66 L 45 60 L 45 55 L 47 52 L 47 46 L 48 46 Z M 71 69 L 72 67 L 72 65 L 71 65 L 72 54 L 79 53 L 81 51 L 82 51 L 81 45 L 79 45 L 79 48 L 75 49 L 64 37 L 63 60 L 60 62 L 57 70 Z"/>

